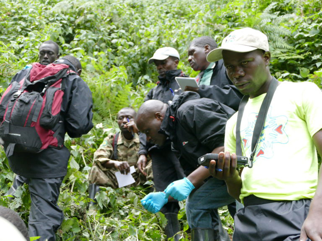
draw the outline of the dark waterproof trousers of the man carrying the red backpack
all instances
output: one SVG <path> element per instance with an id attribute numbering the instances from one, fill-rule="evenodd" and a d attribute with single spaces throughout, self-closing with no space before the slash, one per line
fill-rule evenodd
<path id="1" fill-rule="evenodd" d="M 24 178 L 24 177 L 23 177 Z M 55 241 L 55 233 L 62 224 L 63 212 L 57 205 L 63 177 L 24 178 L 31 198 L 28 220 L 29 236 L 41 236 L 39 241 Z"/>

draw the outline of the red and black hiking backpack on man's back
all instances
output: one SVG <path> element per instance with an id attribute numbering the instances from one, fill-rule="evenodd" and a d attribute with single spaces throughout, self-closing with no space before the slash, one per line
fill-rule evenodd
<path id="1" fill-rule="evenodd" d="M 0 137 L 7 156 L 62 148 L 60 110 L 69 74 L 76 73 L 66 64 L 33 63 L 21 80 L 9 85 L 0 100 Z"/>

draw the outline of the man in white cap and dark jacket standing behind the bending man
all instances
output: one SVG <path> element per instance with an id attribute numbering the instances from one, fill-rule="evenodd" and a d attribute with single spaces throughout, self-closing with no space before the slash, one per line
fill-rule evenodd
<path id="1" fill-rule="evenodd" d="M 167 103 L 173 99 L 175 94 L 181 93 L 175 77 L 187 76 L 185 76 L 182 70 L 177 69 L 179 60 L 179 53 L 174 48 L 163 47 L 156 50 L 148 63 L 154 63 L 156 65 L 156 70 L 159 73 L 159 81 L 157 82 L 156 87 L 149 91 L 145 101 L 159 100 L 163 103 Z M 145 138 L 145 135 L 143 136 Z M 142 134 L 140 137 L 141 143 L 145 143 L 145 141 L 142 141 Z M 169 183 L 182 179 L 185 176 L 175 152 L 171 150 L 170 140 L 167 140 L 163 147 L 151 143 L 147 143 L 146 146 L 141 145 L 138 152 L 139 158 L 137 167 L 141 173 L 145 175 L 144 168 L 147 163 L 147 153 L 149 153 L 152 159 L 152 170 L 156 191 L 164 190 Z M 173 237 L 175 233 L 180 231 L 178 222 L 179 210 L 180 207 L 176 200 L 167 203 L 163 209 L 161 209 L 161 212 L 168 220 L 165 230 L 167 237 Z M 175 236 L 175 240 L 179 240 L 178 235 Z"/>

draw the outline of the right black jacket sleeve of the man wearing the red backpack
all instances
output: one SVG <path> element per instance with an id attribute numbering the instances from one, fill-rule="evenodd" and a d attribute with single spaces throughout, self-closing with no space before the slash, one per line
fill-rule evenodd
<path id="1" fill-rule="evenodd" d="M 70 81 L 70 80 L 68 80 Z M 71 138 L 81 137 L 93 128 L 92 93 L 87 84 L 77 76 L 72 80 L 68 95 L 68 110 L 65 116 L 65 127 Z"/>

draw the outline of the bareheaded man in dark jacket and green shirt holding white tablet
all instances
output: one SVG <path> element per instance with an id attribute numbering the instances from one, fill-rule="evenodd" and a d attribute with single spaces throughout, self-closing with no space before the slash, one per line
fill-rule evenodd
<path id="1" fill-rule="evenodd" d="M 187 86 L 185 90 L 195 91 L 201 98 L 217 100 L 237 111 L 243 95 L 228 78 L 223 60 L 210 63 L 206 59 L 207 54 L 217 47 L 216 41 L 208 36 L 192 40 L 188 62 L 194 71 L 200 71 L 196 77 L 199 88 Z"/>

